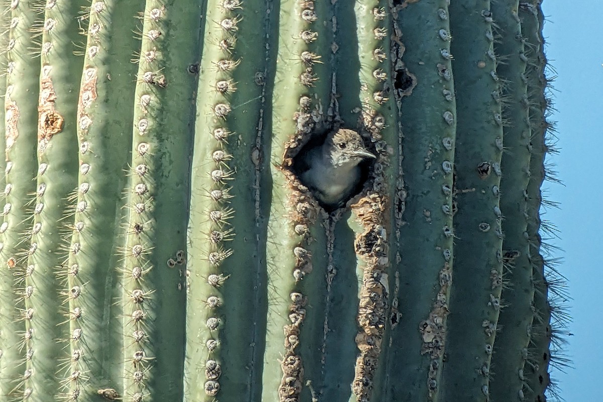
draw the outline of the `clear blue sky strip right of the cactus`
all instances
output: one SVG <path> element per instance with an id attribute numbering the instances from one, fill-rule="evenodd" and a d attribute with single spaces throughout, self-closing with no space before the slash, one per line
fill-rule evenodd
<path id="1" fill-rule="evenodd" d="M 600 0 L 545 0 L 546 55 L 557 75 L 554 83 L 559 155 L 556 165 L 565 186 L 546 183 L 548 199 L 561 203 L 544 219 L 560 230 L 554 245 L 563 257 L 572 324 L 567 356 L 573 368 L 554 371 L 567 402 L 601 400 L 603 358 L 603 47 Z"/>

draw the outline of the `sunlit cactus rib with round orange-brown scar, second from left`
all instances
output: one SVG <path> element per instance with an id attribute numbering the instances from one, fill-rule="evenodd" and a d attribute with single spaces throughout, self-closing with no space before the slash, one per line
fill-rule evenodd
<path id="1" fill-rule="evenodd" d="M 63 387 L 68 390 L 64 395 L 70 400 L 77 399 L 80 395 L 80 385 L 87 378 L 84 371 L 72 370 L 68 357 L 65 357 L 66 373 L 63 366 L 60 366 L 58 374 L 47 372 L 42 367 L 52 365 L 59 356 L 59 349 L 55 345 L 57 338 L 71 343 L 80 341 L 81 334 L 58 324 L 60 319 L 57 317 L 57 306 L 60 303 L 71 304 L 70 301 L 80 297 L 84 291 L 83 284 L 78 286 L 71 283 L 71 277 L 63 270 L 68 255 L 80 252 L 79 245 L 68 247 L 62 236 L 74 226 L 73 214 L 67 212 L 73 201 L 69 194 L 77 182 L 77 161 L 71 155 L 77 152 L 77 124 L 74 117 L 78 92 L 74 90 L 75 83 L 71 78 L 81 71 L 82 58 L 73 54 L 72 46 L 79 33 L 77 14 L 82 5 L 83 2 L 77 0 L 49 0 L 43 7 L 39 7 L 39 12 L 45 16 L 43 23 L 37 28 L 42 39 L 37 129 L 39 168 L 31 245 L 28 250 L 30 271 L 34 275 L 36 272 L 44 272 L 45 275 L 41 281 L 34 278 L 33 282 L 37 286 L 28 300 L 31 300 L 33 308 L 37 310 L 36 327 L 48 337 L 38 345 L 43 358 L 38 357 L 41 361 L 36 364 L 37 359 L 34 357 L 34 376 L 55 378 L 58 375 L 62 378 Z M 56 273 L 55 269 L 58 270 Z M 65 307 L 63 310 L 66 310 Z M 69 327 L 73 328 L 74 321 L 81 318 L 81 311 L 79 314 L 78 311 L 80 310 L 75 309 L 66 312 L 66 320 L 62 324 L 69 322 Z M 43 323 L 43 327 L 39 323 Z M 58 330 L 60 334 L 57 334 Z M 35 388 L 40 394 L 37 396 L 40 400 L 58 391 L 49 385 Z"/>

